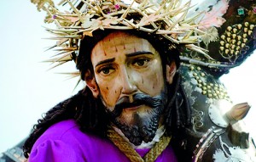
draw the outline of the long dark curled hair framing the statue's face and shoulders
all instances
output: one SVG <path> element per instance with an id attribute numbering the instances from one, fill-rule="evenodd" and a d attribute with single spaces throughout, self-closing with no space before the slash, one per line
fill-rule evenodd
<path id="1" fill-rule="evenodd" d="M 93 74 L 90 62 L 91 49 L 96 45 L 96 42 L 99 42 L 111 32 L 113 31 L 94 31 L 94 36 L 85 36 L 80 42 L 79 56 L 76 58 L 76 62 L 83 80 L 86 71 L 90 70 L 90 74 Z M 147 39 L 153 45 L 160 53 L 164 76 L 166 74 L 166 64 L 170 64 L 172 60 L 175 60 L 177 67 L 179 66 L 178 49 L 165 37 L 148 34 L 143 31 L 125 32 Z M 190 122 L 190 106 L 181 85 L 181 75 L 178 72 L 174 76 L 172 85 L 167 86 L 167 95 L 169 98 L 164 113 L 165 126 L 166 132 L 173 134 L 177 132 L 178 127 L 189 125 Z M 79 91 L 73 97 L 55 105 L 42 119 L 38 120 L 38 124 L 33 126 L 32 133 L 24 144 L 25 157 L 28 158 L 33 144 L 49 126 L 67 119 L 76 120 L 80 130 L 83 132 L 93 133 L 99 137 L 107 136 L 108 123 L 110 122 L 108 115 L 100 99 L 94 98 L 90 89 L 85 87 L 84 90 Z"/>

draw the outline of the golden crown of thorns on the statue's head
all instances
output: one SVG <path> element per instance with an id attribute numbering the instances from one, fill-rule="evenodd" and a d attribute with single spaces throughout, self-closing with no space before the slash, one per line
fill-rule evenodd
<path id="1" fill-rule="evenodd" d="M 54 46 L 59 53 L 49 62 L 55 66 L 74 60 L 79 50 L 79 41 L 84 36 L 93 36 L 93 31 L 138 30 L 166 37 L 172 43 L 207 55 L 206 50 L 195 46 L 201 41 L 204 33 L 198 29 L 195 20 L 200 14 L 188 17 L 190 1 L 181 3 L 179 0 L 164 0 L 160 3 L 153 0 L 121 1 L 121 0 L 62 0 L 58 8 L 51 0 L 32 0 L 38 10 L 47 12 L 46 23 L 55 23 L 55 29 L 46 28 L 57 40 Z M 67 8 L 65 10 L 65 8 Z M 64 9 L 61 11 L 61 9 Z M 79 75 L 79 73 L 73 73 Z"/>

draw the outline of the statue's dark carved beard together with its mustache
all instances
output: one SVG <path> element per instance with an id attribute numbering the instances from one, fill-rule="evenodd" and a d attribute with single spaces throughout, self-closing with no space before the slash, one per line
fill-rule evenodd
<path id="1" fill-rule="evenodd" d="M 130 103 L 128 97 L 120 98 L 113 111 L 107 109 L 108 115 L 111 116 L 111 121 L 117 126 L 134 145 L 140 145 L 144 142 L 151 142 L 155 136 L 155 132 L 159 127 L 160 117 L 164 110 L 165 93 L 161 92 L 160 95 L 150 97 L 143 93 L 133 95 L 133 102 Z M 135 112 L 133 114 L 133 124 L 128 126 L 122 122 L 119 116 L 122 114 L 123 109 L 135 107 L 139 105 L 147 105 L 149 108 L 145 112 L 146 115 L 141 116 Z"/>

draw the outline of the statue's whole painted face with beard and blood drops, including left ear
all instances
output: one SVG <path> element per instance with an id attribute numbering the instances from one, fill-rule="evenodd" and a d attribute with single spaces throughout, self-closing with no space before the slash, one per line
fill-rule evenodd
<path id="1" fill-rule="evenodd" d="M 90 59 L 94 81 L 87 85 L 113 123 L 136 145 L 151 141 L 164 109 L 160 54 L 147 40 L 118 31 L 97 42 Z"/>

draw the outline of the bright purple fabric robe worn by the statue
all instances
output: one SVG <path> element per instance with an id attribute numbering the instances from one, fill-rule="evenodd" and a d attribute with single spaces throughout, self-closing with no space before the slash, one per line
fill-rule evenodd
<path id="1" fill-rule="evenodd" d="M 149 149 L 137 149 L 141 156 Z M 49 127 L 35 142 L 30 162 L 128 162 L 125 154 L 112 142 L 79 131 L 74 120 L 64 120 Z M 156 162 L 177 162 L 171 147 L 160 154 Z"/>

